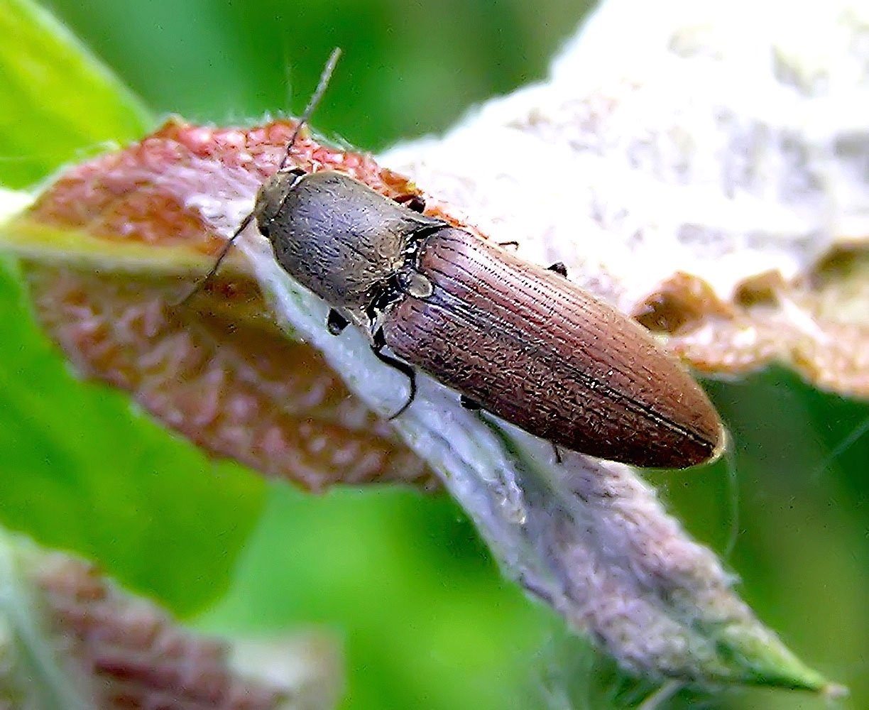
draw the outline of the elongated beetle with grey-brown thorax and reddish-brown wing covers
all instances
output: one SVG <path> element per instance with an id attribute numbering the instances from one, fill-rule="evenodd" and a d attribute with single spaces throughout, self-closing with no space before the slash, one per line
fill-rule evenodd
<path id="1" fill-rule="evenodd" d="M 331 171 L 278 173 L 254 216 L 282 268 L 368 328 L 375 352 L 388 345 L 531 434 L 645 467 L 722 448 L 719 416 L 680 363 L 552 270 Z"/>

